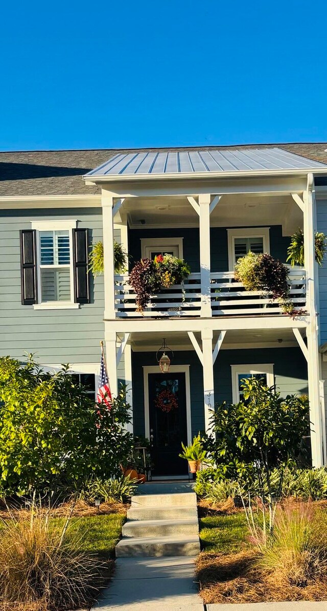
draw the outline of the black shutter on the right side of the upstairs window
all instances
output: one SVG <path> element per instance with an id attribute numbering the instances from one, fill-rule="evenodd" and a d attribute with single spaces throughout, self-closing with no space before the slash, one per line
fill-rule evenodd
<path id="1" fill-rule="evenodd" d="M 89 304 L 89 232 L 87 229 L 73 229 L 73 266 L 75 303 Z"/>

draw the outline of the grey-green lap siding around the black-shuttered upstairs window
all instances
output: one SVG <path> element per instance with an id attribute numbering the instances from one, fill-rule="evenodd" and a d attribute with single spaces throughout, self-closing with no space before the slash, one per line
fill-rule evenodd
<path id="1" fill-rule="evenodd" d="M 102 276 L 90 276 L 91 302 L 79 309 L 34 310 L 32 305 L 21 305 L 20 229 L 31 229 L 31 221 L 59 219 L 77 219 L 78 227 L 89 229 L 92 243 L 102 239 L 99 208 L 0 211 L 0 356 L 24 360 L 26 353 L 34 353 L 41 364 L 100 359 Z"/>

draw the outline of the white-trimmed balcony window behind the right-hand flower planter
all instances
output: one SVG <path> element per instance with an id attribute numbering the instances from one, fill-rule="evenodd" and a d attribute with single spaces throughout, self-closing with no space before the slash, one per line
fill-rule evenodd
<path id="1" fill-rule="evenodd" d="M 270 254 L 269 227 L 227 229 L 229 269 L 233 271 L 240 257 L 252 252 Z"/>

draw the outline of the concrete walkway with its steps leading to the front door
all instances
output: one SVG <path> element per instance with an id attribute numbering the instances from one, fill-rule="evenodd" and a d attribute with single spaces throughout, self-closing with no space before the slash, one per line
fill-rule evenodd
<path id="1" fill-rule="evenodd" d="M 204 611 L 194 582 L 200 540 L 192 485 L 140 486 L 122 535 L 112 583 L 94 609 Z"/>

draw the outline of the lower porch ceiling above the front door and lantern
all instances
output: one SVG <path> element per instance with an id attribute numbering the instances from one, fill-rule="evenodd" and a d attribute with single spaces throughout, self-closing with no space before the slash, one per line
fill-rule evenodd
<path id="1" fill-rule="evenodd" d="M 304 330 L 301 329 L 301 334 L 304 337 Z M 200 333 L 196 333 L 196 338 L 201 344 Z M 191 350 L 193 345 L 189 340 L 188 334 L 183 331 L 166 332 L 164 334 L 167 345 L 172 350 Z M 219 337 L 219 331 L 213 332 L 213 348 Z M 279 340 L 282 340 L 281 342 Z M 128 340 L 134 351 L 157 351 L 163 343 L 162 333 L 147 333 L 138 332 L 131 333 Z M 298 346 L 292 329 L 233 329 L 227 331 L 222 349 L 242 349 L 242 348 L 283 348 L 289 346 Z"/>

